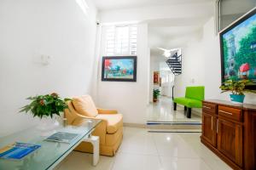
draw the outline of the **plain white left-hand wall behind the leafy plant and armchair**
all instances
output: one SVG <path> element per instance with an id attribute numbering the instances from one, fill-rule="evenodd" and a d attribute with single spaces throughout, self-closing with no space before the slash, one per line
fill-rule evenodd
<path id="1" fill-rule="evenodd" d="M 71 0 L 0 1 L 0 136 L 37 123 L 18 113 L 28 96 L 90 93 L 96 8 L 88 5 L 84 14 Z"/>

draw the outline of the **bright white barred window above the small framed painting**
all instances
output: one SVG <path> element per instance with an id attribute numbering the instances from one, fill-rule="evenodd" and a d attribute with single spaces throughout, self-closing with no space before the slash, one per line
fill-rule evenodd
<path id="1" fill-rule="evenodd" d="M 106 31 L 107 55 L 136 55 L 137 26 L 108 26 Z"/>

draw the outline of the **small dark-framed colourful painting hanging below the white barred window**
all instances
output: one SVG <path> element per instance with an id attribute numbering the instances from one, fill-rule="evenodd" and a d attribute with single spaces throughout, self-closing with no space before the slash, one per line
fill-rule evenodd
<path id="1" fill-rule="evenodd" d="M 136 82 L 137 56 L 102 57 L 102 81 Z"/>

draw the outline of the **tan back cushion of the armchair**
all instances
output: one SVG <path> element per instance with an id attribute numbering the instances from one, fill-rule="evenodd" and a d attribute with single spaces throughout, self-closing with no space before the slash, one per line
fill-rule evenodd
<path id="1" fill-rule="evenodd" d="M 74 97 L 72 102 L 75 110 L 78 111 L 79 114 L 90 117 L 95 117 L 98 115 L 98 111 L 94 105 L 94 102 L 90 98 L 90 95 Z"/>

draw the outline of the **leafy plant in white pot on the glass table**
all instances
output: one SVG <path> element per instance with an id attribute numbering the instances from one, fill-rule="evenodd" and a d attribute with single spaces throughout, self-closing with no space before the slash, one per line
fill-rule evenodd
<path id="1" fill-rule="evenodd" d="M 61 116 L 61 113 L 68 109 L 67 100 L 61 99 L 56 94 L 37 95 L 34 97 L 28 97 L 31 100 L 29 105 L 25 105 L 21 108 L 20 112 L 25 111 L 26 113 L 31 111 L 32 116 L 39 117 L 41 119 L 38 129 L 42 131 L 49 131 L 59 125 L 56 121 L 57 116 Z M 53 119 L 55 117 L 55 119 Z M 44 135 L 44 134 L 43 134 Z"/>

